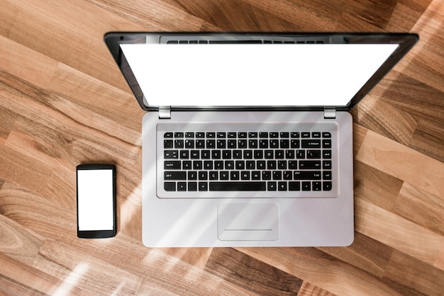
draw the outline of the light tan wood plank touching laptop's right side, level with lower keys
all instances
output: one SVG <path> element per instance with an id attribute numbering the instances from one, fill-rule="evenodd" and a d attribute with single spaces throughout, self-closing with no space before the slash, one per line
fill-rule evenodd
<path id="1" fill-rule="evenodd" d="M 376 132 L 367 132 L 356 159 L 434 195 L 444 196 L 444 167 L 440 161 Z"/>

